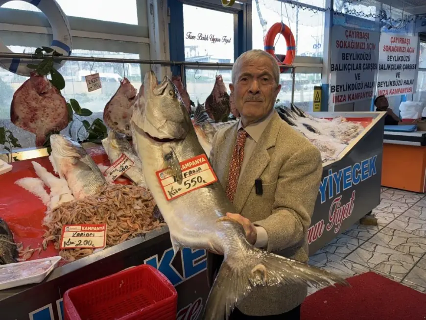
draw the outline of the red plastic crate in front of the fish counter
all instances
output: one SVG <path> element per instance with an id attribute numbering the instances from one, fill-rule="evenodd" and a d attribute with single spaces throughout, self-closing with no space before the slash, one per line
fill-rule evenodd
<path id="1" fill-rule="evenodd" d="M 157 269 L 140 265 L 71 288 L 65 320 L 175 320 L 177 293 Z"/>

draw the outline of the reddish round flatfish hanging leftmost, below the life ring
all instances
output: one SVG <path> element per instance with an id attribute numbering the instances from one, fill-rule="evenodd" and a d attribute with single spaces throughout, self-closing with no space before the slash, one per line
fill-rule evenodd
<path id="1" fill-rule="evenodd" d="M 36 135 L 41 147 L 52 131 L 61 131 L 69 123 L 67 102 L 47 77 L 32 72 L 30 78 L 13 94 L 10 121 Z"/>

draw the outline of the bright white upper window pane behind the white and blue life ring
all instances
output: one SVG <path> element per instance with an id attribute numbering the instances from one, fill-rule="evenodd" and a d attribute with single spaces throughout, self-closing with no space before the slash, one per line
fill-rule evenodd
<path id="1" fill-rule="evenodd" d="M 136 0 L 56 0 L 68 16 L 119 22 L 130 25 L 138 24 Z M 40 12 L 34 5 L 24 1 L 10 1 L 2 8 Z"/>

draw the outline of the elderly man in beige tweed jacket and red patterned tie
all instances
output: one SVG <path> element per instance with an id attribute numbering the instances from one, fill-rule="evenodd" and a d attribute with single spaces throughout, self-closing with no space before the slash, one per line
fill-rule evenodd
<path id="1" fill-rule="evenodd" d="M 216 133 L 210 161 L 254 246 L 307 262 L 307 232 L 322 174 L 321 154 L 281 120 L 273 106 L 280 69 L 263 50 L 238 57 L 229 85 L 240 120 Z M 212 285 L 223 257 L 208 253 Z M 300 319 L 307 286 L 258 287 L 231 319 Z"/>

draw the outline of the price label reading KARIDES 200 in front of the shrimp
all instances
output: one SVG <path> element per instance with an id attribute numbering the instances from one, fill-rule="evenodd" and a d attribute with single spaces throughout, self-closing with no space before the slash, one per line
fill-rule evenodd
<path id="1" fill-rule="evenodd" d="M 62 249 L 97 249 L 106 244 L 106 224 L 66 224 L 62 227 Z"/>

